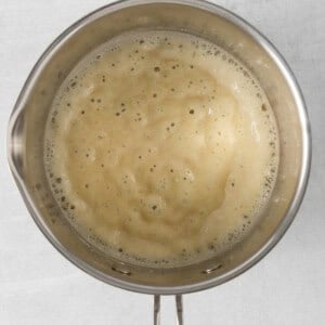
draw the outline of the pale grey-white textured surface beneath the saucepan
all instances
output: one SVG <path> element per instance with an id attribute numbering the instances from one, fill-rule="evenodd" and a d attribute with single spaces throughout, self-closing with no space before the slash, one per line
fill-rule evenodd
<path id="1" fill-rule="evenodd" d="M 153 299 L 105 285 L 38 231 L 9 172 L 6 123 L 46 47 L 101 0 L 0 0 L 0 324 L 152 324 Z M 325 2 L 220 0 L 266 35 L 294 69 L 309 107 L 313 166 L 296 221 L 259 264 L 184 297 L 185 324 L 325 324 Z M 162 324 L 174 324 L 172 297 Z"/>

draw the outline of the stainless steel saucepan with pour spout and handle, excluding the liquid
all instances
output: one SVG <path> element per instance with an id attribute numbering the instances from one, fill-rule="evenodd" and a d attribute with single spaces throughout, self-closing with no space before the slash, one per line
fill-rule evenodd
<path id="1" fill-rule="evenodd" d="M 55 203 L 43 166 L 43 133 L 53 98 L 72 68 L 110 38 L 136 29 L 172 29 L 202 36 L 231 52 L 260 80 L 273 107 L 281 144 L 278 176 L 260 222 L 222 256 L 183 266 L 154 269 L 119 261 L 91 246 L 70 226 Z M 35 222 L 74 264 L 114 286 L 155 296 L 176 295 L 182 324 L 182 296 L 220 285 L 256 264 L 284 235 L 307 186 L 311 136 L 296 79 L 275 48 L 235 14 L 208 2 L 127 0 L 103 6 L 66 29 L 32 68 L 12 113 L 9 162 Z"/>

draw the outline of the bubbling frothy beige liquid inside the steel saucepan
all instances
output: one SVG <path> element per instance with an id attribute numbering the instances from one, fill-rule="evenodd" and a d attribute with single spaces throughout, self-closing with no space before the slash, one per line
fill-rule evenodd
<path id="1" fill-rule="evenodd" d="M 53 103 L 46 168 L 92 245 L 186 264 L 247 235 L 276 179 L 270 104 L 249 70 L 181 32 L 129 34 L 91 53 Z"/>

